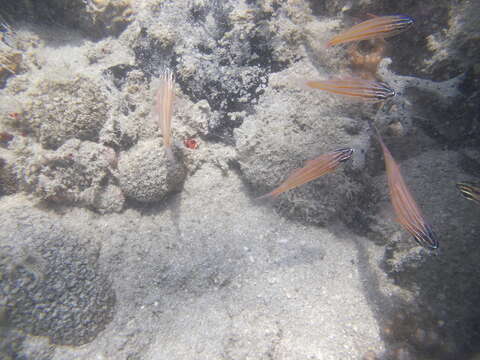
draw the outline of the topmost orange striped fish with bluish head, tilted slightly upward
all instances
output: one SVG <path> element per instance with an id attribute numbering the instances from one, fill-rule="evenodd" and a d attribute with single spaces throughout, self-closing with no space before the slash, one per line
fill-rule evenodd
<path id="1" fill-rule="evenodd" d="M 375 16 L 332 38 L 327 47 L 352 41 L 387 38 L 408 29 L 415 21 L 406 15 Z"/>

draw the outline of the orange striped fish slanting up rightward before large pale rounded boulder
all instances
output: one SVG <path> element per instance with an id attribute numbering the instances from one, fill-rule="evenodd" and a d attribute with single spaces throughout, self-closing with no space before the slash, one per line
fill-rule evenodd
<path id="1" fill-rule="evenodd" d="M 258 199 L 276 197 L 285 191 L 294 189 L 309 181 L 315 180 L 320 176 L 331 173 L 339 167 L 341 163 L 350 159 L 352 155 L 353 149 L 345 148 L 320 155 L 313 160 L 308 160 L 304 167 L 293 171 L 293 173 L 279 187 L 268 194 L 260 196 Z"/>

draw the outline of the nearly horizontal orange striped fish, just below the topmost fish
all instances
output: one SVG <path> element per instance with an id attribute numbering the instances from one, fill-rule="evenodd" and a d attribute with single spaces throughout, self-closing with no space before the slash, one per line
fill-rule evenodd
<path id="1" fill-rule="evenodd" d="M 382 81 L 364 79 L 338 79 L 306 81 L 313 89 L 325 90 L 334 94 L 346 95 L 367 101 L 384 101 L 395 96 L 395 90 Z"/>

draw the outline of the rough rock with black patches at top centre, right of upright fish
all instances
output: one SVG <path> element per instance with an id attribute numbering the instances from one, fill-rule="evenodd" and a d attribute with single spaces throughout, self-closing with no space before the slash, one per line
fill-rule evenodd
<path id="1" fill-rule="evenodd" d="M 207 101 L 216 114 L 211 135 L 231 138 L 241 123 L 235 114 L 257 103 L 268 75 L 299 58 L 302 33 L 289 16 L 279 16 L 275 2 L 187 3 L 151 5 L 148 14 L 140 13 L 145 27 L 131 47 L 145 73 L 172 68 L 182 92 L 193 103 Z"/>

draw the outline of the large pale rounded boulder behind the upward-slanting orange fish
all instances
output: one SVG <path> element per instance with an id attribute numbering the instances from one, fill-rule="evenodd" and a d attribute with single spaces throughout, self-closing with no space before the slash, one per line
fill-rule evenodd
<path id="1" fill-rule="evenodd" d="M 350 221 L 360 208 L 356 205 L 365 202 L 362 199 L 372 190 L 361 172 L 370 143 L 367 123 L 352 116 L 358 104 L 345 104 L 343 98 L 295 85 L 298 78 L 311 74 L 314 71 L 308 64 L 299 63 L 272 75 L 256 113 L 235 131 L 238 162 L 245 180 L 255 187 L 255 195 L 263 195 L 305 161 L 339 148 L 353 148 L 353 159 L 334 173 L 273 200 L 282 213 L 303 221 Z"/>

